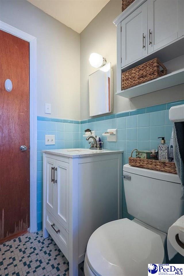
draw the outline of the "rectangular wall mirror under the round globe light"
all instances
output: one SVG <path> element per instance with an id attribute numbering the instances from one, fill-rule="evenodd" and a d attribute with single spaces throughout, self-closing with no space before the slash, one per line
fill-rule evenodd
<path id="1" fill-rule="evenodd" d="M 110 63 L 89 75 L 89 116 L 112 111 L 112 69 Z"/>

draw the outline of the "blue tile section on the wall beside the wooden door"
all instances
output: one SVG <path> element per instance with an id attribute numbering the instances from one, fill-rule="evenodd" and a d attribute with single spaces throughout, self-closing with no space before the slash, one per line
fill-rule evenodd
<path id="1" fill-rule="evenodd" d="M 45 145 L 45 135 L 55 135 L 55 145 Z M 37 227 L 42 229 L 43 154 L 42 150 L 80 147 L 80 121 L 37 117 Z"/>

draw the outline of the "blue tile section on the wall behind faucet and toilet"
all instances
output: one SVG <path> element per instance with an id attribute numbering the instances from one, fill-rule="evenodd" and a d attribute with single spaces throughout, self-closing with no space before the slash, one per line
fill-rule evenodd
<path id="1" fill-rule="evenodd" d="M 156 149 L 160 143 L 158 139 L 160 136 L 165 136 L 166 143 L 170 142 L 173 123 L 169 120 L 169 108 L 180 104 L 184 104 L 184 100 L 83 120 L 81 121 L 81 147 L 89 147 L 83 134 L 86 128 L 90 128 L 101 137 L 105 149 L 123 150 L 123 164 L 126 164 L 134 148 Z M 117 142 L 108 142 L 106 136 L 102 136 L 102 133 L 111 128 L 117 128 Z M 124 189 L 123 217 L 133 218 L 127 213 Z"/>

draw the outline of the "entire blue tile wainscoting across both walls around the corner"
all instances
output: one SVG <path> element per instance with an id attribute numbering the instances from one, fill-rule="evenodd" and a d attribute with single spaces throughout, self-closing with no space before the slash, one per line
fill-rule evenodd
<path id="1" fill-rule="evenodd" d="M 123 164 L 134 148 L 151 150 L 157 148 L 160 139 L 165 136 L 169 143 L 173 123 L 169 120 L 171 106 L 184 104 L 177 101 L 167 104 L 131 110 L 92 118 L 82 121 L 37 117 L 38 120 L 38 157 L 37 157 L 37 224 L 38 231 L 42 229 L 42 179 L 43 157 L 41 150 L 56 148 L 89 148 L 88 141 L 83 137 L 84 130 L 90 128 L 104 142 L 104 148 L 109 150 L 123 150 Z M 117 142 L 108 142 L 102 133 L 107 129 L 117 128 Z M 45 145 L 45 134 L 55 135 L 55 145 Z M 123 217 L 132 218 L 127 213 L 127 206 L 123 192 Z"/>

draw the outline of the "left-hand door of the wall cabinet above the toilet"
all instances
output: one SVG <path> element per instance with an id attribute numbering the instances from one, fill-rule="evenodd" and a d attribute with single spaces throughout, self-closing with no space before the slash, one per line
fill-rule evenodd
<path id="1" fill-rule="evenodd" d="M 121 22 L 121 67 L 147 54 L 147 1 Z"/>

